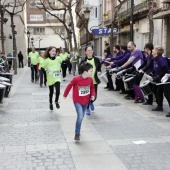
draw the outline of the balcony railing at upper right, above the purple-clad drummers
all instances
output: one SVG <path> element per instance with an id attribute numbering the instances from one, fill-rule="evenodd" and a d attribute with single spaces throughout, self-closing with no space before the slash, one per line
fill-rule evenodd
<path id="1" fill-rule="evenodd" d="M 141 12 L 146 11 L 146 10 L 149 10 L 149 5 L 148 5 L 147 1 L 144 1 L 144 2 L 134 6 L 133 15 L 141 13 Z M 130 15 L 131 15 L 131 11 L 132 11 L 132 9 L 129 8 L 126 11 L 123 11 L 121 13 L 118 12 L 117 19 L 124 20 L 124 19 L 129 18 Z"/>

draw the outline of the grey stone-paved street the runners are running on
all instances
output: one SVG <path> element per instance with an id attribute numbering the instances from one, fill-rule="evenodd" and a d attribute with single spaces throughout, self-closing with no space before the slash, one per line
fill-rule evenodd
<path id="1" fill-rule="evenodd" d="M 61 84 L 61 109 L 48 108 L 48 88 L 19 69 L 9 98 L 0 105 L 0 170 L 169 170 L 170 118 L 99 86 L 95 112 L 85 116 L 74 141 L 76 113 Z M 154 105 L 156 105 L 154 103 Z M 137 145 L 132 141 L 146 141 Z"/>

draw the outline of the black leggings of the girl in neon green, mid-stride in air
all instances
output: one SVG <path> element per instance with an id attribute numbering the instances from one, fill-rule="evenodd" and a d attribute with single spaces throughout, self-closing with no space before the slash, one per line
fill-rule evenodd
<path id="1" fill-rule="evenodd" d="M 60 95 L 60 82 L 55 82 L 53 85 L 49 86 L 49 102 L 53 103 L 54 88 L 56 91 L 55 102 L 58 102 Z"/>

